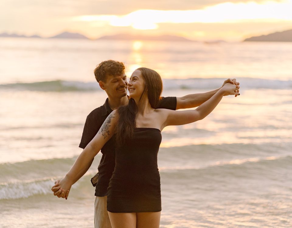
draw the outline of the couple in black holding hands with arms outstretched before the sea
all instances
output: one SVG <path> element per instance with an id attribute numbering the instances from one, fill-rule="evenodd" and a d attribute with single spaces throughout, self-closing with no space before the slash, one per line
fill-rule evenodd
<path id="1" fill-rule="evenodd" d="M 224 95 L 239 95 L 239 83 L 227 79 L 214 91 L 161 98 L 162 80 L 154 70 L 138 68 L 128 82 L 123 63 L 106 60 L 94 74 L 108 98 L 87 116 L 79 145 L 84 150 L 66 176 L 55 182 L 52 191 L 67 199 L 71 186 L 85 174 L 101 150 L 95 227 L 159 227 L 157 153 L 161 131 L 165 126 L 203 119 Z M 195 110 L 175 111 L 197 106 Z"/>

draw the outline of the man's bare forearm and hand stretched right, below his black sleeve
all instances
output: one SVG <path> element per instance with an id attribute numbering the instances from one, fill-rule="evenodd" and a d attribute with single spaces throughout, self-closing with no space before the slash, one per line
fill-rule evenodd
<path id="1" fill-rule="evenodd" d="M 232 83 L 238 86 L 238 91 L 239 92 L 239 82 L 236 81 L 235 78 L 233 79 L 226 79 L 221 86 L 221 88 L 226 84 L 226 83 Z M 195 93 L 195 94 L 189 94 L 183 97 L 177 97 L 176 98 L 176 110 L 177 109 L 189 109 L 189 108 L 194 108 L 198 107 L 201 104 L 203 104 L 205 101 L 209 100 L 215 93 L 219 91 L 220 88 L 206 92 L 206 93 Z M 236 97 L 237 95 L 235 95 Z"/>

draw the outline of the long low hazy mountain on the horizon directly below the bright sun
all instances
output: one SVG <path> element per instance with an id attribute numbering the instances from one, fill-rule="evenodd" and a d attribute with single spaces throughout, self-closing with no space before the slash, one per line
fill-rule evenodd
<path id="1" fill-rule="evenodd" d="M 113 36 L 102 36 L 97 40 L 156 40 L 156 41 L 187 41 L 193 42 L 193 40 L 188 40 L 181 36 L 143 36 L 143 35 L 128 35 L 128 34 L 116 34 Z"/>

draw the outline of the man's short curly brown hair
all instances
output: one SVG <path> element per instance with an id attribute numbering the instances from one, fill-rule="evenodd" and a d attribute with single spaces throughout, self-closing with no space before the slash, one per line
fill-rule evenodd
<path id="1" fill-rule="evenodd" d="M 106 82 L 108 75 L 116 76 L 124 73 L 125 65 L 122 62 L 114 61 L 111 59 L 101 62 L 94 69 L 94 76 L 97 82 Z"/>

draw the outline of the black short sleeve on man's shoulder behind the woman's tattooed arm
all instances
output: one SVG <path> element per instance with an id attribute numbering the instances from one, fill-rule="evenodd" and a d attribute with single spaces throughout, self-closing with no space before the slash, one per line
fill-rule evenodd
<path id="1" fill-rule="evenodd" d="M 103 123 L 103 122 L 102 122 Z M 101 127 L 100 121 L 95 118 L 93 115 L 93 112 L 90 113 L 85 121 L 83 133 L 81 137 L 81 142 L 79 144 L 79 147 L 84 149 L 87 144 L 96 136 L 99 128 Z"/>

